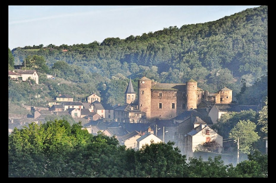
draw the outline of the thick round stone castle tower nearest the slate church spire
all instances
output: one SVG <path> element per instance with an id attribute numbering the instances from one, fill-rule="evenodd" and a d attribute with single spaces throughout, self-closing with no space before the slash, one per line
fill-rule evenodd
<path id="1" fill-rule="evenodd" d="M 138 109 L 145 112 L 150 119 L 151 80 L 145 76 L 138 80 Z"/>

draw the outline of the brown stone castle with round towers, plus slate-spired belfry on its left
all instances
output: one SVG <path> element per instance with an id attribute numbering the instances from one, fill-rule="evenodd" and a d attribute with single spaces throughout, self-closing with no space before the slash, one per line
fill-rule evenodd
<path id="1" fill-rule="evenodd" d="M 229 104 L 232 90 L 224 87 L 216 93 L 209 93 L 197 87 L 193 79 L 185 84 L 156 83 L 145 76 L 138 80 L 138 97 L 131 79 L 125 92 L 125 104 L 134 105 L 146 113 L 149 120 L 172 119 L 184 111 L 209 108 L 209 104 Z"/>

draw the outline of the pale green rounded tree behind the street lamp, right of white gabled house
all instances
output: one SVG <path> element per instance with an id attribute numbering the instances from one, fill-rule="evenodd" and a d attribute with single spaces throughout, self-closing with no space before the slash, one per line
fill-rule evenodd
<path id="1" fill-rule="evenodd" d="M 239 150 L 242 153 L 249 154 L 250 147 L 253 142 L 258 141 L 260 137 L 258 132 L 255 132 L 256 124 L 249 120 L 240 120 L 229 133 L 229 138 L 238 140 L 239 139 Z"/>

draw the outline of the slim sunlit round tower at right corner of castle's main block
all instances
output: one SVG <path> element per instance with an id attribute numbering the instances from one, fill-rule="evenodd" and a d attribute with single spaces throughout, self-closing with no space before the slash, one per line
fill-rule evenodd
<path id="1" fill-rule="evenodd" d="M 197 82 L 193 79 L 186 81 L 186 97 L 187 97 L 187 105 L 186 110 L 196 109 L 196 101 L 197 101 Z"/>

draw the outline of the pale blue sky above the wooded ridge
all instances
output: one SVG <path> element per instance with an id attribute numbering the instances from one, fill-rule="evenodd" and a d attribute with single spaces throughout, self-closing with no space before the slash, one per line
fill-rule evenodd
<path id="1" fill-rule="evenodd" d="M 8 46 L 101 43 L 170 26 L 206 23 L 260 5 L 9 6 Z"/>

